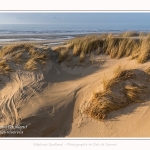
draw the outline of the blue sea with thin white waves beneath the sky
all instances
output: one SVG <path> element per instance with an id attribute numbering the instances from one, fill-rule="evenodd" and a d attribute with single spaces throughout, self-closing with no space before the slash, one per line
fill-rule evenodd
<path id="1" fill-rule="evenodd" d="M 2 38 L 4 35 L 75 35 L 89 33 L 119 33 L 125 31 L 150 32 L 150 24 L 134 23 L 69 23 L 69 24 L 0 24 L 0 41 L 15 41 Z M 69 36 L 68 38 L 71 38 Z M 18 40 L 18 39 L 17 39 Z M 33 39 L 32 39 L 33 40 Z M 35 38 L 34 40 L 42 40 Z M 45 40 L 45 39 L 43 39 Z"/>

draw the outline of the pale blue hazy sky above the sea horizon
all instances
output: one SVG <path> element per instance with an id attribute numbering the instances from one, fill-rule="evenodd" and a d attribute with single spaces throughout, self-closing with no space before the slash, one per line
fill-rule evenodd
<path id="1" fill-rule="evenodd" d="M 0 24 L 42 24 L 42 23 L 126 23 L 150 24 L 150 13 L 107 13 L 107 12 L 0 12 Z"/>

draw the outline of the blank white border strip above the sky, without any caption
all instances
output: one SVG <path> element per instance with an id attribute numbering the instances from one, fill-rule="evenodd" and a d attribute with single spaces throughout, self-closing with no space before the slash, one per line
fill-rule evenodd
<path id="1" fill-rule="evenodd" d="M 149 0 L 3 0 L 0 10 L 150 10 Z"/>

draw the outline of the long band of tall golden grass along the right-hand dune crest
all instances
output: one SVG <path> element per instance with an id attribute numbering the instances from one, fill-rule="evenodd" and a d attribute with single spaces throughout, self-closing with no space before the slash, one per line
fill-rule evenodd
<path id="1" fill-rule="evenodd" d="M 70 55 L 79 56 L 79 61 L 82 62 L 86 55 L 91 53 L 106 54 L 117 59 L 131 56 L 131 59 L 137 59 L 139 63 L 144 63 L 150 58 L 150 35 L 134 31 L 118 35 L 109 33 L 76 37 L 66 42 L 66 45 L 65 47 L 62 45 L 62 49 L 61 45 L 56 48 L 59 53 L 59 63 Z"/>

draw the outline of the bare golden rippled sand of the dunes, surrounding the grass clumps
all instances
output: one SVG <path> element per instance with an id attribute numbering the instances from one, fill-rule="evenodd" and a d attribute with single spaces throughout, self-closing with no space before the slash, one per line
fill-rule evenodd
<path id="1" fill-rule="evenodd" d="M 55 42 L 60 41 L 55 39 Z M 150 62 L 138 64 L 129 57 L 118 60 L 98 56 L 90 64 L 59 64 L 56 55 L 51 53 L 44 70 L 39 68 L 37 71 L 26 71 L 16 68 L 10 78 L 0 75 L 3 79 L 0 85 L 1 137 L 150 136 L 149 99 L 110 112 L 103 121 L 84 113 L 93 92 L 102 89 L 104 75 L 110 77 L 113 69 L 120 64 L 128 69 L 143 70 L 150 66 Z M 4 128 L 8 131 L 8 125 L 14 127 L 9 129 L 9 133 L 20 126 L 22 134 L 2 134 Z"/>

